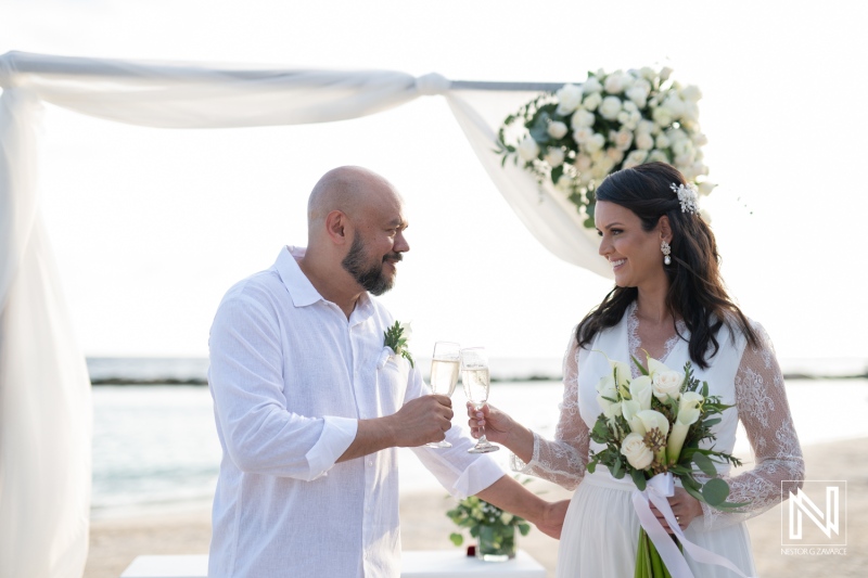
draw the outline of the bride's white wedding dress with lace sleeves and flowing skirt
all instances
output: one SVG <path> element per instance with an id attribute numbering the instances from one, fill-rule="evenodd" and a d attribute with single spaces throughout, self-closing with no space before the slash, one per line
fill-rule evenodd
<path id="1" fill-rule="evenodd" d="M 601 409 L 597 402 L 597 383 L 610 372 L 607 356 L 628 362 L 638 375 L 630 356 L 644 362 L 646 354 L 638 337 L 635 304 L 624 319 L 598 334 L 587 349 L 579 349 L 573 335 L 564 358 L 564 396 L 556 439 L 546 440 L 534 434 L 534 455 L 527 463 L 513 458 L 513 466 L 522 473 L 576 489 L 564 521 L 558 555 L 559 578 L 624 578 L 634 574 L 639 521 L 631 502 L 636 489 L 629 477 L 615 479 L 605 467 L 593 474 L 586 472 L 589 450 L 603 449 L 590 440 Z M 754 325 L 761 337 L 760 347 L 746 345 L 739 333 L 730 337 L 726 326 L 717 334 L 720 350 L 702 370 L 693 363 L 694 375 L 706 381 L 712 395 L 733 404 L 715 426 L 717 450 L 731 452 L 736 442 L 738 420 L 744 425 L 755 455 L 753 468 L 735 477 L 726 466 L 718 472 L 729 483 L 733 502 L 750 502 L 739 513 L 723 513 L 702 504 L 703 514 L 685 530 L 686 537 L 706 550 L 723 555 L 746 576 L 755 574 L 751 544 L 744 521 L 765 512 L 780 501 L 781 481 L 801 480 L 804 461 L 793 427 L 783 377 L 765 331 Z M 684 324 L 682 335 L 689 336 Z M 688 343 L 677 335 L 665 351 L 649 351 L 671 369 L 682 370 L 689 360 Z M 602 354 L 604 352 L 605 356 Z M 700 564 L 687 556 L 697 577 L 732 578 L 735 574 L 720 566 Z"/>

